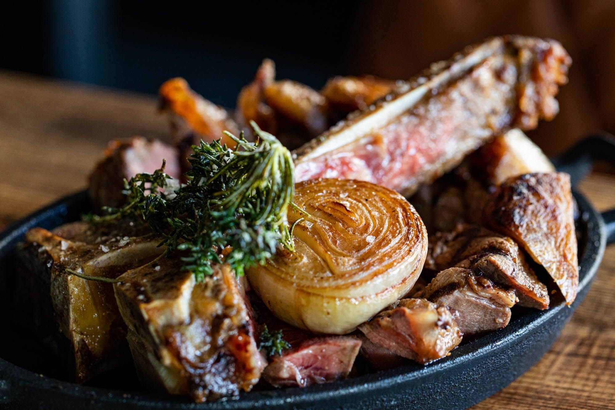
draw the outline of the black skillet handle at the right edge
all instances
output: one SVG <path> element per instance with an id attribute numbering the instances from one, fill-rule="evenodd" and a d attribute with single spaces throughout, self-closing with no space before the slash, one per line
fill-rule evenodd
<path id="1" fill-rule="evenodd" d="M 553 159 L 558 171 L 568 172 L 573 187 L 592 171 L 593 164 L 604 161 L 615 166 L 615 137 L 607 132 L 587 135 L 581 142 Z M 603 212 L 606 244 L 615 242 L 615 209 Z"/>

